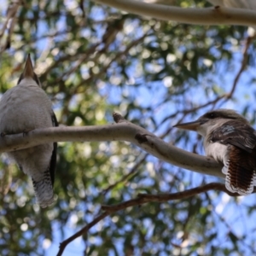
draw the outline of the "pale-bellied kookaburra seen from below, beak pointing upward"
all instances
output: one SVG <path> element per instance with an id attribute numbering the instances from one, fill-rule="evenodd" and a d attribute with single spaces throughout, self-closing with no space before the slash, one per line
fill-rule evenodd
<path id="1" fill-rule="evenodd" d="M 5 92 L 0 101 L 1 135 L 24 133 L 38 128 L 57 126 L 52 104 L 33 72 L 30 55 L 18 84 Z M 41 207 L 54 201 L 57 143 L 45 143 L 32 148 L 8 153 L 20 170 L 32 177 L 32 183 Z"/>

